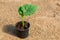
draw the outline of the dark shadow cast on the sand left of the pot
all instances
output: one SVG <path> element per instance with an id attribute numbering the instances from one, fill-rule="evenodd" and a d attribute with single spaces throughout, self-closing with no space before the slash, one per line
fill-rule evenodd
<path id="1" fill-rule="evenodd" d="M 14 25 L 11 25 L 11 24 L 10 25 L 4 25 L 3 32 L 14 35 L 14 36 L 17 36 L 16 35 L 16 32 L 17 32 L 16 28 L 15 28 Z"/>

